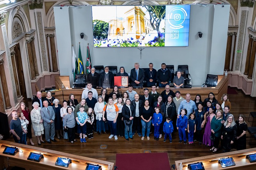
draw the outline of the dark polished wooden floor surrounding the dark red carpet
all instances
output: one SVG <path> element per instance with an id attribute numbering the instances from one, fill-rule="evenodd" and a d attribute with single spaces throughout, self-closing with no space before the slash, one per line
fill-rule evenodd
<path id="1" fill-rule="evenodd" d="M 237 116 L 239 114 L 244 114 L 247 122 L 249 113 L 256 110 L 255 98 L 245 96 L 241 91 L 238 90 L 236 90 L 236 92 L 238 94 L 229 94 L 229 101 L 232 105 L 231 113 L 234 114 L 235 120 L 237 120 Z M 31 110 L 31 101 L 26 101 L 26 103 L 29 104 Z M 251 123 L 252 122 L 250 122 L 248 126 L 251 126 Z M 195 144 L 186 145 L 183 143 L 179 144 L 177 132 L 172 134 L 172 144 L 170 144 L 168 140 L 163 142 L 163 138 L 160 138 L 159 141 L 154 140 L 153 134 L 150 134 L 150 140 L 145 139 L 144 141 L 142 141 L 141 137 L 138 137 L 138 135 L 135 135 L 134 139 L 129 141 L 125 140 L 124 137 L 119 137 L 117 141 L 115 141 L 113 138 L 108 139 L 108 137 L 109 133 L 101 136 L 94 134 L 94 138 L 90 140 L 87 139 L 87 143 L 76 142 L 74 144 L 69 143 L 68 140 L 64 140 L 63 138 L 59 140 L 57 137 L 55 137 L 57 142 L 53 142 L 52 144 L 42 144 L 38 147 L 111 162 L 116 161 L 116 153 L 143 153 L 145 151 L 167 152 L 169 155 L 170 165 L 174 164 L 176 160 L 214 154 L 209 151 L 209 147 L 199 145 L 198 142 L 195 142 Z M 37 146 L 36 137 L 33 136 L 32 139 L 35 146 Z M 79 137 L 77 136 L 77 140 L 78 139 Z M 12 138 L 8 140 L 13 141 Z M 100 145 L 107 145 L 107 149 L 100 149 Z M 254 147 L 256 147 L 256 141 L 252 141 L 252 144 L 249 145 L 249 133 L 247 132 L 247 149 Z"/>

